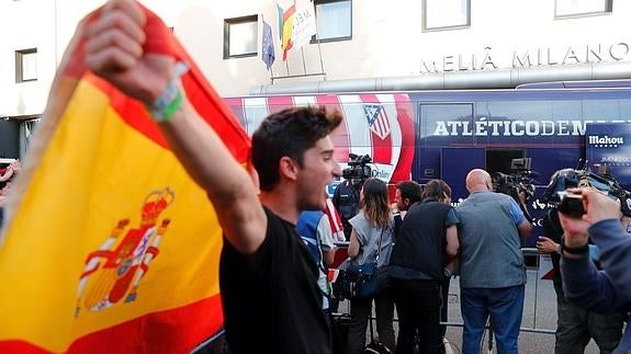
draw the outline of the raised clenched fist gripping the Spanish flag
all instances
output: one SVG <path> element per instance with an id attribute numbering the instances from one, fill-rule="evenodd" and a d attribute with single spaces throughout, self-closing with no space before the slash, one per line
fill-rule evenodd
<path id="1" fill-rule="evenodd" d="M 150 104 L 173 76 L 174 59 L 147 54 L 146 16 L 134 0 L 110 0 L 84 24 L 86 66 L 127 95 Z"/>

